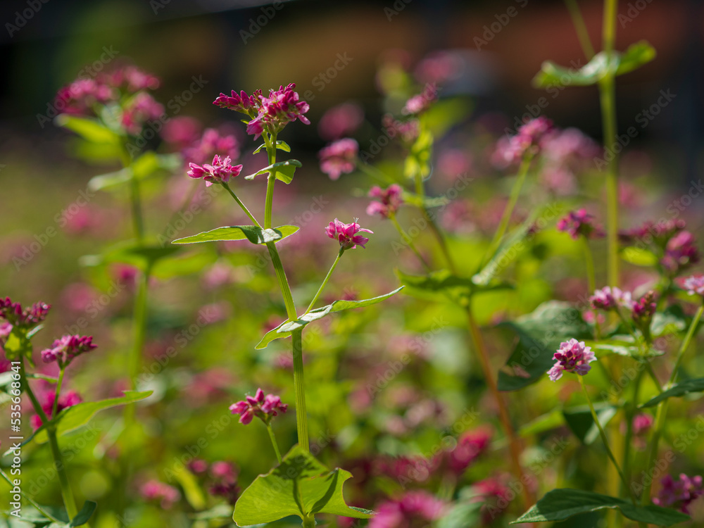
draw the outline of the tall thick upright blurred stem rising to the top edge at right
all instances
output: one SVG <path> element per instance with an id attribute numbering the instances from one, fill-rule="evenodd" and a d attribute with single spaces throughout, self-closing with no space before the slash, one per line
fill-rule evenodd
<path id="1" fill-rule="evenodd" d="M 603 51 L 609 61 L 614 50 L 616 37 L 616 14 L 618 0 L 604 0 Z M 613 148 L 616 142 L 616 80 L 615 71 L 609 67 L 598 84 L 599 101 L 604 136 L 604 156 L 610 153 L 606 174 L 607 201 L 607 242 L 608 242 L 608 283 L 612 287 L 619 284 L 618 260 L 618 155 Z"/>

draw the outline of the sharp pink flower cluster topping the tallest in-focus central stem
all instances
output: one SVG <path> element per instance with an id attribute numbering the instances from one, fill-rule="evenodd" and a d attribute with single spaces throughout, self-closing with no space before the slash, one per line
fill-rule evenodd
<path id="1" fill-rule="evenodd" d="M 252 118 L 247 123 L 247 134 L 258 138 L 263 132 L 277 134 L 289 122 L 296 119 L 310 125 L 310 121 L 305 114 L 310 106 L 306 101 L 300 101 L 298 93 L 294 92 L 296 84 L 291 83 L 286 87 L 280 86 L 277 90 L 270 90 L 269 96 L 264 96 L 261 90 L 257 90 L 253 95 L 247 95 L 244 90 L 237 94 L 232 90 L 232 94 L 227 96 L 220 94 L 213 104 L 220 108 L 230 108 L 240 113 L 244 113 Z"/>

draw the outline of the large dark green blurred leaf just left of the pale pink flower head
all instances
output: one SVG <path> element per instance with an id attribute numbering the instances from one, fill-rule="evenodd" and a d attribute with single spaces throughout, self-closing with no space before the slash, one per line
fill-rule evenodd
<path id="1" fill-rule="evenodd" d="M 553 354 L 562 341 L 591 337 L 591 327 L 582 313 L 560 301 L 542 303 L 533 313 L 499 326 L 513 329 L 519 338 L 505 367 L 498 372 L 501 391 L 516 391 L 538 381 L 555 363 Z"/>

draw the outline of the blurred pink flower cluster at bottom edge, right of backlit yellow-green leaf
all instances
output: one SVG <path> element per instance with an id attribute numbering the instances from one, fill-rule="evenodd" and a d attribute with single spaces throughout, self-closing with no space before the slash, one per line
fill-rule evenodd
<path id="1" fill-rule="evenodd" d="M 401 498 L 385 501 L 375 508 L 369 528 L 428 526 L 446 513 L 447 505 L 427 491 L 408 491 Z"/>

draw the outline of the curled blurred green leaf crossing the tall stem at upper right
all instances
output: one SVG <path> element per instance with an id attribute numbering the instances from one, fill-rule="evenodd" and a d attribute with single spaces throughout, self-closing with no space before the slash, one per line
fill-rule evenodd
<path id="1" fill-rule="evenodd" d="M 648 42 L 641 41 L 631 44 L 623 54 L 613 51 L 611 60 L 609 60 L 604 51 L 601 51 L 579 70 L 564 68 L 551 61 L 546 61 L 541 66 L 539 73 L 533 78 L 533 85 L 536 88 L 589 86 L 603 79 L 610 69 L 615 75 L 623 75 L 640 68 L 641 65 L 652 61 L 654 58 L 655 48 L 650 46 Z"/>

